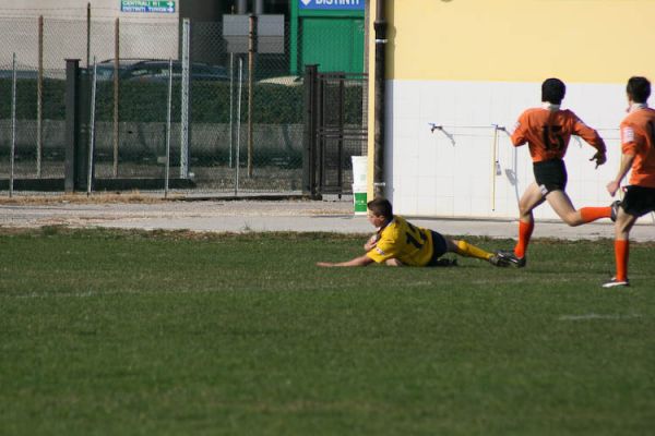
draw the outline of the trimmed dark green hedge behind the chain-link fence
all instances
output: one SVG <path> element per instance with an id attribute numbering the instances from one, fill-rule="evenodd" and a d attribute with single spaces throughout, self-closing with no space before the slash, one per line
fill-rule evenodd
<path id="1" fill-rule="evenodd" d="M 120 87 L 120 121 L 166 121 L 167 83 L 124 82 Z M 265 124 L 297 124 L 303 122 L 303 86 L 255 84 L 253 121 Z M 180 85 L 174 84 L 172 120 L 180 119 Z M 242 89 L 241 120 L 248 118 L 247 87 Z M 348 123 L 361 122 L 362 87 L 345 87 L 344 117 Z M 235 93 L 236 94 L 236 93 Z M 111 121 L 114 85 L 100 82 L 97 87 L 96 120 Z M 11 113 L 11 81 L 0 80 L 0 119 Z M 235 101 L 236 110 L 236 96 Z M 330 107 L 330 106 L 329 106 Z M 36 119 L 36 81 L 16 83 L 16 118 Z M 66 81 L 44 81 L 44 119 L 66 118 Z M 191 120 L 205 123 L 229 122 L 229 83 L 195 82 L 191 85 Z"/>

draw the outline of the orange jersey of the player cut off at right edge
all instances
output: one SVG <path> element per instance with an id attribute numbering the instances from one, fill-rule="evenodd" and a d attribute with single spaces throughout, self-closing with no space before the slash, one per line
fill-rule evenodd
<path id="1" fill-rule="evenodd" d="M 655 110 L 644 107 L 623 119 L 621 149 L 634 155 L 630 184 L 655 187 Z"/>

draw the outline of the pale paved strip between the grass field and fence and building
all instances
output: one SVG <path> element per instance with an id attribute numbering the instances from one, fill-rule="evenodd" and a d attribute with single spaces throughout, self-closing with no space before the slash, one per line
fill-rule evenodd
<path id="1" fill-rule="evenodd" d="M 407 217 L 412 222 L 449 235 L 515 238 L 516 220 L 481 220 Z M 353 214 L 353 203 L 303 199 L 209 199 L 148 202 L 4 202 L 0 204 L 0 227 L 119 228 L 145 230 L 191 230 L 210 232 L 298 231 L 371 233 L 365 216 Z M 655 219 L 647 215 L 632 230 L 631 240 L 654 241 Z M 567 240 L 614 238 L 609 220 L 580 227 L 560 221 L 538 220 L 534 238 Z"/>

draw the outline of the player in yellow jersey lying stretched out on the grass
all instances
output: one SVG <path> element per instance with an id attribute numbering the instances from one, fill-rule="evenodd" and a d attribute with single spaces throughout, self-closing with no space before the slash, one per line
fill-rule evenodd
<path id="1" fill-rule="evenodd" d="M 439 257 L 445 253 L 455 253 L 487 261 L 495 266 L 508 266 L 499 256 L 466 241 L 445 238 L 393 215 L 393 208 L 386 198 L 378 197 L 368 203 L 368 220 L 378 232 L 364 244 L 366 254 L 347 262 L 319 262 L 317 265 L 367 266 L 378 263 L 389 266 L 439 266 Z"/>

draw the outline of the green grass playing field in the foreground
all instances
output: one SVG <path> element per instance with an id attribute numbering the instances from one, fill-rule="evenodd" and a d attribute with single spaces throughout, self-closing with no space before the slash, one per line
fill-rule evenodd
<path id="1" fill-rule="evenodd" d="M 467 239 L 492 250 L 511 241 Z M 0 434 L 645 435 L 654 244 L 332 268 L 362 238 L 0 233 Z"/>

